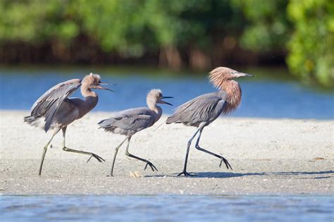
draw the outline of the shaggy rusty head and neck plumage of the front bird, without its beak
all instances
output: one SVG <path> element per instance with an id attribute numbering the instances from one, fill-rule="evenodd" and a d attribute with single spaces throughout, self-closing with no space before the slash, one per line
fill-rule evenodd
<path id="1" fill-rule="evenodd" d="M 237 109 L 237 106 L 240 104 L 242 95 L 239 84 L 235 80 L 231 79 L 233 78 L 231 71 L 234 70 L 225 67 L 218 67 L 209 73 L 209 80 L 212 85 L 214 85 L 214 87 L 219 90 L 225 91 L 228 95 L 228 98 L 226 99 L 228 104 L 223 110 L 224 114 L 228 114 Z"/>

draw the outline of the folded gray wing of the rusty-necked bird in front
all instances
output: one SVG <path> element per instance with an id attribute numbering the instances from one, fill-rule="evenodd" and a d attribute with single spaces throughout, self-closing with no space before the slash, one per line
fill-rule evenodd
<path id="1" fill-rule="evenodd" d="M 214 121 L 225 106 L 225 100 L 216 94 L 204 94 L 178 107 L 166 123 L 201 123 Z"/>

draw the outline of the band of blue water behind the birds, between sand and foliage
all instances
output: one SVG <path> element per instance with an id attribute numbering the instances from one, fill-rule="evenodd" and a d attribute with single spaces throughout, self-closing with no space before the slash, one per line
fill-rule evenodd
<path id="1" fill-rule="evenodd" d="M 256 72 L 256 71 L 255 71 Z M 82 70 L 63 74 L 63 70 L 15 70 L 0 68 L 0 109 L 28 110 L 50 87 L 71 78 L 82 78 Z M 99 104 L 94 111 L 119 111 L 146 106 L 146 94 L 152 88 L 160 88 L 174 106 L 163 106 L 164 113 L 200 94 L 214 92 L 206 77 L 190 78 L 167 75 L 107 75 L 100 73 L 115 93 L 99 90 Z M 257 74 L 257 73 L 254 73 Z M 282 73 L 283 75 L 283 73 Z M 162 76 L 162 77 L 161 77 Z M 169 77 L 168 77 L 169 76 Z M 319 92 L 302 86 L 295 80 L 270 78 L 239 78 L 242 87 L 242 104 L 231 116 L 259 118 L 334 118 L 333 92 Z M 81 97 L 75 92 L 73 97 Z"/>

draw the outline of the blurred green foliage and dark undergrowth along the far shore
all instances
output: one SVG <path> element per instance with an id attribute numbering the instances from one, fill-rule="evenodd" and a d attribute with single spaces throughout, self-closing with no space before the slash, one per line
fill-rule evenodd
<path id="1" fill-rule="evenodd" d="M 334 1 L 0 0 L 4 56 L 8 45 L 49 46 L 61 61 L 95 49 L 119 59 L 153 55 L 170 68 L 259 65 L 254 57 L 283 54 L 301 80 L 333 87 Z"/>

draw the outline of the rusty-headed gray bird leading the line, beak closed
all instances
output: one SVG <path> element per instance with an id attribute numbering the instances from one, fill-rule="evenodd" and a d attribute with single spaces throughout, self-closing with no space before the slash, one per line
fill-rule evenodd
<path id="1" fill-rule="evenodd" d="M 210 82 L 218 89 L 217 92 L 203 94 L 199 97 L 196 97 L 190 101 L 187 101 L 185 104 L 182 104 L 175 111 L 173 116 L 167 118 L 166 123 L 183 123 L 184 125 L 197 127 L 196 132 L 187 144 L 187 153 L 185 154 L 185 166 L 183 167 L 183 172 L 178 175 L 191 175 L 187 173 L 187 159 L 189 155 L 190 144 L 194 137 L 198 135 L 197 142 L 195 144 L 196 149 L 211 154 L 213 156 L 221 159 L 221 164 L 225 163 L 226 168 L 232 169 L 228 160 L 223 156 L 209 152 L 202 147 L 199 147 L 199 139 L 201 138 L 202 131 L 212 123 L 216 118 L 223 113 L 227 115 L 231 113 L 237 106 L 239 106 L 241 101 L 241 88 L 239 84 L 233 80 L 234 78 L 239 78 L 242 76 L 254 76 L 247 73 L 240 73 L 236 70 L 218 67 L 214 70 L 211 70 L 209 73 Z M 219 167 L 221 167 L 221 164 Z"/>

